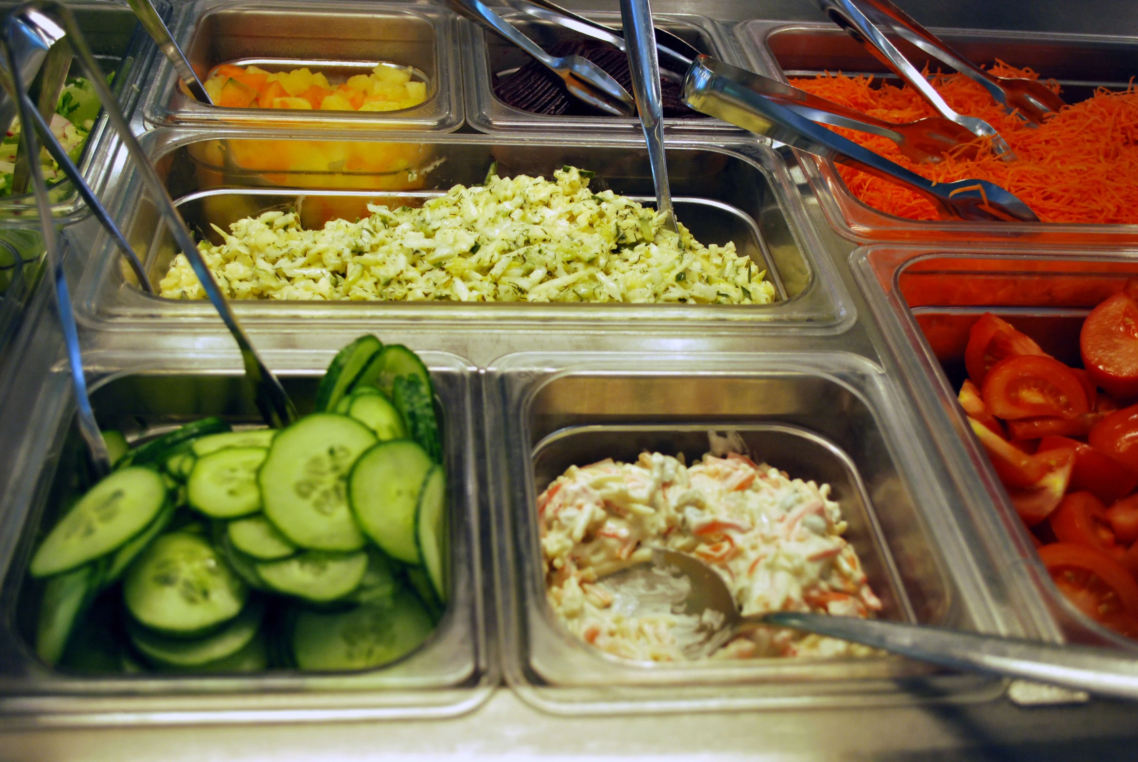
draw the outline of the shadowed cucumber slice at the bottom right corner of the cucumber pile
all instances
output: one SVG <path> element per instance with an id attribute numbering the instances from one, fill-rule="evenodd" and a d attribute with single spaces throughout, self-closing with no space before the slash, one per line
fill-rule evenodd
<path id="1" fill-rule="evenodd" d="M 401 590 L 390 605 L 364 604 L 333 613 L 300 611 L 292 629 L 292 653 L 302 670 L 374 669 L 418 648 L 432 629 L 419 599 Z"/>

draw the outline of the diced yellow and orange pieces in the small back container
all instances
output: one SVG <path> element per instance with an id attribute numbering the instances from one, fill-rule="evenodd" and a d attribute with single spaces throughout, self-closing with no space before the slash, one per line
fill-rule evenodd
<path id="1" fill-rule="evenodd" d="M 225 108 L 292 108 L 325 111 L 395 111 L 427 100 L 427 83 L 411 69 L 379 64 L 337 85 L 308 68 L 266 72 L 257 66 L 222 64 L 205 82 L 215 106 Z"/>

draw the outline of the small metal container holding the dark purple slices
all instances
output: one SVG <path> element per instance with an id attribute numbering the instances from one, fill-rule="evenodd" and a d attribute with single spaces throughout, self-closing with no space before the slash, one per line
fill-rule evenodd
<path id="1" fill-rule="evenodd" d="M 585 40 L 564 27 L 537 19 L 517 10 L 500 9 L 502 17 L 529 36 L 544 50 L 558 42 Z M 612 28 L 620 28 L 619 13 L 586 13 L 587 18 Z M 731 35 L 724 27 L 706 16 L 693 14 L 654 14 L 655 25 L 665 28 L 700 52 L 715 56 L 729 64 L 737 60 L 731 43 Z M 467 73 L 467 119 L 470 126 L 494 134 L 535 134 L 556 131 L 559 135 L 641 134 L 640 119 L 610 115 L 596 116 L 549 116 L 533 114 L 502 101 L 494 92 L 496 75 L 511 72 L 533 60 L 520 48 L 498 34 L 464 20 L 463 50 Z M 753 140 L 753 135 L 726 122 L 714 118 L 663 119 L 663 131 L 668 136 L 698 138 L 708 140 Z"/>

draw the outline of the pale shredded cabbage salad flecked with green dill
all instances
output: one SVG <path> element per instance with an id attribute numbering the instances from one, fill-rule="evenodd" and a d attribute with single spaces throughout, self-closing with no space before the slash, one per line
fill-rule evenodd
<path id="1" fill-rule="evenodd" d="M 766 272 L 735 245 L 663 229 L 652 208 L 563 167 L 554 180 L 487 176 L 422 207 L 369 205 L 357 222 L 305 230 L 296 212 L 239 220 L 199 249 L 238 299 L 769 304 Z M 681 246 L 682 239 L 682 246 Z M 184 255 L 162 296 L 205 297 Z"/>

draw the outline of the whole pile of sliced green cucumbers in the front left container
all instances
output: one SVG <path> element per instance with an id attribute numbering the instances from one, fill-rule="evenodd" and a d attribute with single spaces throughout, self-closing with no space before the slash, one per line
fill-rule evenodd
<path id="1" fill-rule="evenodd" d="M 446 472 L 430 375 L 364 336 L 315 412 L 217 417 L 130 446 L 42 537 L 35 651 L 85 672 L 363 670 L 427 639 L 446 601 Z"/>

